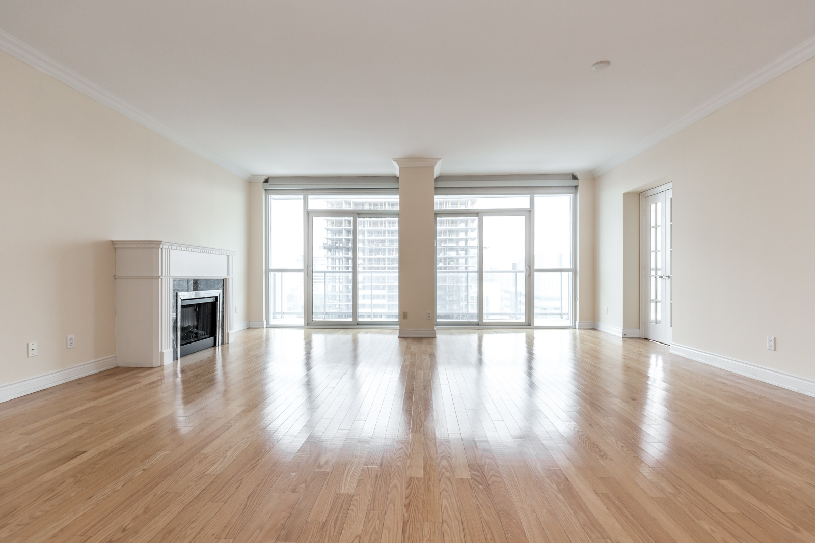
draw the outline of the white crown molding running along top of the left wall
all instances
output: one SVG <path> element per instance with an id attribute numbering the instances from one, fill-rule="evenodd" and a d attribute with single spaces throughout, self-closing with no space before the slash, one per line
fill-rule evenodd
<path id="1" fill-rule="evenodd" d="M 40 72 L 53 77 L 55 80 L 68 85 L 72 89 L 78 90 L 86 96 L 90 96 L 90 98 L 95 99 L 97 102 L 110 107 L 113 111 L 119 112 L 131 120 L 135 120 L 139 125 L 151 129 L 153 132 L 156 132 L 156 134 L 161 134 L 171 142 L 177 143 L 188 151 L 194 152 L 201 158 L 205 158 L 213 164 L 218 164 L 221 168 L 234 173 L 238 177 L 242 177 L 246 180 L 249 179 L 249 172 L 245 172 L 243 169 L 240 169 L 221 156 L 216 155 L 214 152 L 205 149 L 205 147 L 201 147 L 196 142 L 193 142 L 192 139 L 178 134 L 174 129 L 153 119 L 147 112 L 143 112 L 139 109 L 139 107 L 135 107 L 133 104 L 105 90 L 86 77 L 82 77 L 77 72 L 64 66 L 64 64 L 42 54 L 32 46 L 29 46 L 29 44 L 21 42 L 2 29 L 0 29 L 0 50 L 6 51 L 9 55 L 15 57 L 15 59 L 22 60 L 24 63 L 29 64 L 29 66 L 37 68 Z"/>

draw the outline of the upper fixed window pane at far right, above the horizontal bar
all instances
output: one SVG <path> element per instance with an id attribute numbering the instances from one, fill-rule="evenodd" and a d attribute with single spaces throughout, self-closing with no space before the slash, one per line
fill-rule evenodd
<path id="1" fill-rule="evenodd" d="M 571 195 L 535 196 L 535 268 L 572 268 Z"/>

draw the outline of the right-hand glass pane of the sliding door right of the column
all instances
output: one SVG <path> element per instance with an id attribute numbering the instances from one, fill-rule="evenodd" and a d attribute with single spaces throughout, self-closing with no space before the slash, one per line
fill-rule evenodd
<path id="1" fill-rule="evenodd" d="M 526 321 L 526 217 L 482 217 L 484 321 Z"/>

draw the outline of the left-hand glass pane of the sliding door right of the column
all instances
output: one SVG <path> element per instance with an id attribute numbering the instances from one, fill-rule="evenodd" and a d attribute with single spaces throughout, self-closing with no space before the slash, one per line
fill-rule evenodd
<path id="1" fill-rule="evenodd" d="M 478 217 L 436 217 L 436 318 L 478 322 Z"/>

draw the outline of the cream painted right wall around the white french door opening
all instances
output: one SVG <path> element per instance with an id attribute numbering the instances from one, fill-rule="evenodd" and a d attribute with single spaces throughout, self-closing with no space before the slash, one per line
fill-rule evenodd
<path id="1" fill-rule="evenodd" d="M 670 181 L 673 342 L 815 379 L 813 89 L 815 59 L 597 180 L 599 321 L 638 324 L 632 205 Z"/>

